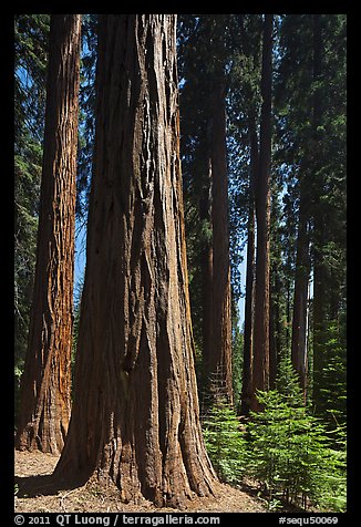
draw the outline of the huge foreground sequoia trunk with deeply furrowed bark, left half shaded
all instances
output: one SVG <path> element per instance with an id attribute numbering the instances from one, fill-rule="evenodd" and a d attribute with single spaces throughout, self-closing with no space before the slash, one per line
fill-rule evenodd
<path id="1" fill-rule="evenodd" d="M 179 506 L 216 476 L 194 370 L 175 31 L 174 14 L 101 16 L 74 403 L 55 475 Z"/>

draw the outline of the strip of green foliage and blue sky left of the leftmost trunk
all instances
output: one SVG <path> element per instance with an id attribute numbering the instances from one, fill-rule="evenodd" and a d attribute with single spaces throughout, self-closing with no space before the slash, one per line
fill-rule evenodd
<path id="1" fill-rule="evenodd" d="M 14 18 L 14 378 L 16 418 L 35 269 L 45 110 L 49 14 Z"/>

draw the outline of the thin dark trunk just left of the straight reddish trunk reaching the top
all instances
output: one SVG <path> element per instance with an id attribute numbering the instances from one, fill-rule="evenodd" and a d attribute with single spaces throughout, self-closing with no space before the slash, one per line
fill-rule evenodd
<path id="1" fill-rule="evenodd" d="M 258 172 L 258 137 L 256 117 L 249 118 L 250 173 L 249 173 L 249 206 L 247 225 L 247 270 L 246 270 L 246 302 L 245 302 L 245 334 L 241 405 L 243 415 L 248 415 L 252 397 L 252 351 L 254 351 L 254 306 L 255 306 L 255 183 Z"/>

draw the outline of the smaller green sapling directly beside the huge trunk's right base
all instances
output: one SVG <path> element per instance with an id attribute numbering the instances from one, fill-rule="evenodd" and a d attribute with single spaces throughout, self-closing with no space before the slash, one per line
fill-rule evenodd
<path id="1" fill-rule="evenodd" d="M 219 478 L 237 484 L 247 467 L 247 445 L 236 412 L 220 399 L 203 421 L 207 452 Z"/>

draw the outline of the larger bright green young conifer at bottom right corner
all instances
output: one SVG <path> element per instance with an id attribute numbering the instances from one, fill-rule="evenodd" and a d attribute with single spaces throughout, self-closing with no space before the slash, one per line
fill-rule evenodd
<path id="1" fill-rule="evenodd" d="M 305 508 L 310 500 L 324 510 L 344 510 L 344 447 L 331 448 L 326 426 L 302 404 L 291 368 L 283 360 L 278 389 L 257 395 L 264 410 L 251 413 L 248 424 L 249 471 L 269 499 L 280 497 Z"/>

